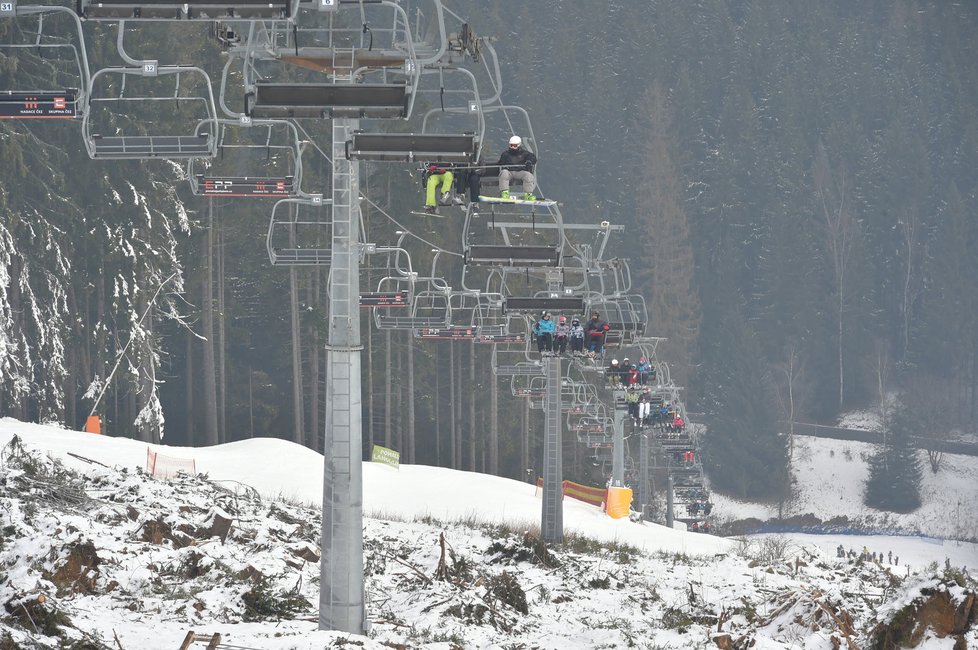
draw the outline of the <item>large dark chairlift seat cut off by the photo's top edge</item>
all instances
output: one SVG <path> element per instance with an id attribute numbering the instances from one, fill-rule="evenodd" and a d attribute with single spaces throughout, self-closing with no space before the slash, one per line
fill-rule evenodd
<path id="1" fill-rule="evenodd" d="M 228 18 L 291 18 L 291 0 L 78 0 L 87 20 L 224 20 Z"/>

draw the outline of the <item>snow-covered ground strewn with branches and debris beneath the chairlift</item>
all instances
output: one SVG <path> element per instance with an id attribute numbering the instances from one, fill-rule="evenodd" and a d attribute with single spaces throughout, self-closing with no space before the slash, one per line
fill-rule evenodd
<path id="1" fill-rule="evenodd" d="M 722 539 L 614 521 L 573 500 L 564 502 L 569 543 L 542 554 L 523 535 L 540 520 L 533 486 L 432 467 L 365 463 L 372 631 L 369 638 L 348 638 L 316 629 L 319 565 L 310 549 L 318 541 L 322 456 L 276 439 L 203 449 L 154 446 L 163 454 L 192 457 L 207 477 L 168 482 L 134 471 L 145 467 L 144 443 L 0 420 L 0 446 L 14 435 L 26 449 L 81 472 L 86 501 L 84 507 L 30 505 L 25 495 L 43 496 L 44 489 L 31 489 L 26 470 L 0 467 L 0 494 L 7 495 L 0 508 L 0 575 L 6 576 L 0 578 L 0 603 L 16 616 L 18 603 L 44 594 L 45 606 L 71 621 L 60 633 L 92 644 L 85 647 L 175 650 L 188 630 L 196 630 L 220 632 L 230 647 L 261 650 L 346 644 L 679 649 L 714 647 L 718 627 L 734 639 L 752 638 L 757 650 L 827 650 L 833 637 L 841 638 L 836 647 L 865 647 L 869 631 L 887 612 L 892 615 L 937 584 L 945 563 L 978 566 L 978 546 L 971 543 L 801 534 Z M 852 460 L 844 460 L 845 450 L 833 446 L 838 441 L 801 442 L 809 465 L 797 467 L 809 467 L 810 476 L 799 469 L 796 511 L 816 504 L 822 509 L 815 514 L 823 519 L 861 514 L 860 452 L 848 443 Z M 962 477 L 976 475 L 975 459 L 953 460 Z M 11 462 L 5 457 L 5 465 Z M 239 489 L 243 485 L 261 498 Z M 907 516 L 901 525 L 933 535 L 928 527 L 947 517 L 940 517 L 941 508 L 960 496 L 971 508 L 961 517 L 973 527 L 974 485 L 955 478 L 948 486 L 944 492 L 956 496 L 942 493 L 935 481 L 922 516 Z M 760 512 L 750 504 L 717 501 L 715 512 L 730 516 Z M 227 539 L 201 536 L 221 512 L 234 519 Z M 480 521 L 485 525 L 476 525 Z M 161 543 L 148 541 L 154 524 L 162 530 Z M 442 535 L 448 575 L 436 579 Z M 79 578 L 84 589 L 66 592 L 55 576 L 70 564 L 69 553 L 87 542 L 98 553 L 98 566 Z M 838 544 L 892 551 L 900 564 L 839 559 Z M 256 610 L 256 602 L 265 609 Z M 821 616 L 826 608 L 834 618 Z M 832 623 L 839 617 L 850 617 L 856 632 L 842 635 Z M 0 640 L 8 634 L 37 644 L 24 647 L 67 647 L 55 645 L 64 641 L 45 634 L 38 621 L 18 621 L 0 624 Z M 969 631 L 966 640 L 969 647 L 978 643 L 978 632 Z M 930 635 L 918 647 L 950 648 L 950 641 Z"/>

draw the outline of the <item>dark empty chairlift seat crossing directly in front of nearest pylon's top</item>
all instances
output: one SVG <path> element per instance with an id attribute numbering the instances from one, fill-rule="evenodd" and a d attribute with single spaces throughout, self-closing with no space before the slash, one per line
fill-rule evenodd
<path id="1" fill-rule="evenodd" d="M 405 117 L 410 94 L 404 84 L 260 82 L 245 95 L 254 118 Z"/>

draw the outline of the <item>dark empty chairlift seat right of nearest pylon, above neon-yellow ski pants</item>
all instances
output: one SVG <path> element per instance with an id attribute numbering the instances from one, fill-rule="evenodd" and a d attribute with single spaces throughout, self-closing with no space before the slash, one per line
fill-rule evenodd
<path id="1" fill-rule="evenodd" d="M 471 164 L 476 137 L 472 134 L 354 133 L 346 143 L 349 160 L 389 162 L 440 162 Z"/>

